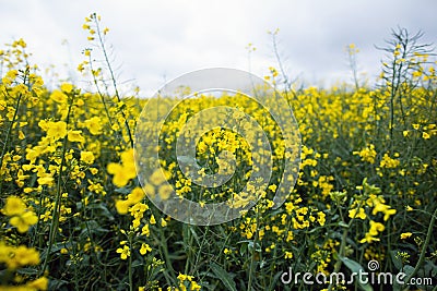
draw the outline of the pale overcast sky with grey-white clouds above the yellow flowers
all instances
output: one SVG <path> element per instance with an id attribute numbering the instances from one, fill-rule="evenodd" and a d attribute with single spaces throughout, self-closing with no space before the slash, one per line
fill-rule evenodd
<path id="1" fill-rule="evenodd" d="M 203 68 L 268 74 L 268 68 L 277 64 L 267 32 L 280 28 L 279 52 L 290 77 L 327 85 L 351 80 L 344 51 L 349 44 L 359 48 L 358 69 L 370 81 L 383 57 L 375 45 L 382 46 L 391 28 L 422 29 L 424 40 L 436 44 L 436 11 L 435 0 L 2 0 L 0 49 L 22 37 L 34 62 L 54 64 L 66 77 L 88 47 L 81 28 L 84 17 L 96 12 L 110 28 L 108 43 L 120 81 L 151 94 L 165 80 Z M 249 43 L 257 48 L 250 66 Z"/>

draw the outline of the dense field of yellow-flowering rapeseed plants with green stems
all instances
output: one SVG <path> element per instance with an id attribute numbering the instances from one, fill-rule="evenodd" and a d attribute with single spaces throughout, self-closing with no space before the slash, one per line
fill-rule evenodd
<path id="1" fill-rule="evenodd" d="M 0 290 L 436 290 L 437 75 L 420 34 L 393 31 L 373 82 L 299 87 L 269 68 L 291 133 L 244 94 L 122 95 L 110 32 L 95 14 L 83 28 L 90 87 L 49 90 L 25 40 L 0 47 Z M 163 125 L 146 123 L 163 105 L 174 107 Z M 243 130 L 212 126 L 196 141 L 198 178 L 229 175 L 205 186 L 181 166 L 178 133 L 218 107 L 237 109 L 225 119 Z M 246 117 L 271 148 L 263 181 L 250 179 L 265 151 Z M 141 171 L 157 130 L 162 171 Z M 280 205 L 282 179 L 292 185 Z M 182 222 L 162 209 L 170 197 L 236 217 Z"/>

